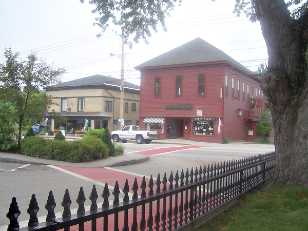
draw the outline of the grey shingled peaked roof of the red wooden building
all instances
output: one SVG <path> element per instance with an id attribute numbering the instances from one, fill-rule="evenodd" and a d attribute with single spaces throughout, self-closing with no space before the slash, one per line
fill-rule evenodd
<path id="1" fill-rule="evenodd" d="M 248 73 L 252 73 L 251 70 L 238 63 L 232 57 L 219 50 L 218 48 L 210 45 L 202 38 L 197 37 L 188 43 L 183 44 L 175 49 L 172 49 L 166 53 L 163 53 L 143 64 L 135 67 L 135 69 L 145 69 L 157 66 L 170 66 L 178 64 L 192 64 L 192 63 L 204 63 L 224 61 L 233 64 L 240 69 Z"/>

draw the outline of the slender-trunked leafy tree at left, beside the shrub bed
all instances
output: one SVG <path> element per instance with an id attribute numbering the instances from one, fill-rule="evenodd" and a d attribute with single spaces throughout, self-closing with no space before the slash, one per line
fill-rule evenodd
<path id="1" fill-rule="evenodd" d="M 10 102 L 13 121 L 18 123 L 18 149 L 20 150 L 22 129 L 30 118 L 40 117 L 50 107 L 52 101 L 46 93 L 40 93 L 47 85 L 58 82 L 65 73 L 62 68 L 54 69 L 44 60 L 39 60 L 36 53 L 20 60 L 18 53 L 5 49 L 6 61 L 0 64 L 0 98 Z"/>

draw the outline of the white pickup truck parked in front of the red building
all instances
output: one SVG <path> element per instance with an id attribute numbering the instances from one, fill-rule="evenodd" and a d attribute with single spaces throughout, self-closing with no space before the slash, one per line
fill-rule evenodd
<path id="1" fill-rule="evenodd" d="M 138 144 L 142 144 L 143 141 L 149 144 L 152 140 L 157 139 L 157 132 L 141 131 L 138 126 L 130 125 L 119 131 L 111 131 L 111 137 L 113 142 L 122 140 L 123 143 L 126 143 L 128 140 L 136 140 Z"/>

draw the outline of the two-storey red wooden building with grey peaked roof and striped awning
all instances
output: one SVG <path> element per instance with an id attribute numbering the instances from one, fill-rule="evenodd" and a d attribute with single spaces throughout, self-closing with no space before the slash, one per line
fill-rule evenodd
<path id="1" fill-rule="evenodd" d="M 159 139 L 253 141 L 264 98 L 261 79 L 196 38 L 137 67 L 141 129 Z"/>

